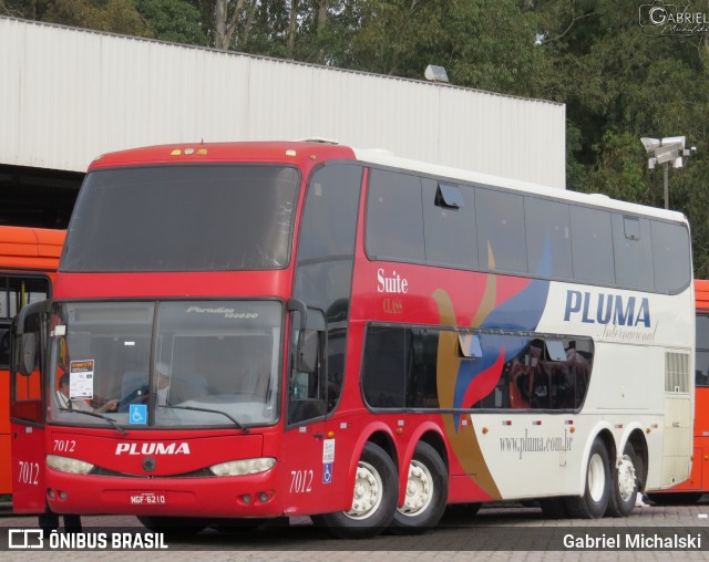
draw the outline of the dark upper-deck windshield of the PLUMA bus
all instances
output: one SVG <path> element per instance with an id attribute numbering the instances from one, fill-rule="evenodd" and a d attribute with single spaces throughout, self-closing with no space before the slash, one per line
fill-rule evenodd
<path id="1" fill-rule="evenodd" d="M 86 176 L 60 269 L 238 271 L 288 264 L 299 173 L 155 166 Z"/>

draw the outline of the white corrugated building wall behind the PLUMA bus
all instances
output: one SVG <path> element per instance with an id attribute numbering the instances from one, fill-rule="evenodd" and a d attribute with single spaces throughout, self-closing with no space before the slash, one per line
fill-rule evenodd
<path id="1" fill-rule="evenodd" d="M 9 18 L 0 123 L 0 165 L 83 171 L 135 146 L 316 136 L 565 186 L 562 104 Z"/>

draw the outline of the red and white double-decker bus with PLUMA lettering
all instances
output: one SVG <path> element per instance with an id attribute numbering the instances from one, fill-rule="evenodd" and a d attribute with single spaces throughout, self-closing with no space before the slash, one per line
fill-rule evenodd
<path id="1" fill-rule="evenodd" d="M 90 167 L 17 323 L 16 509 L 422 531 L 627 516 L 689 475 L 680 214 L 325 143 Z M 474 511 L 474 508 L 471 508 Z"/>

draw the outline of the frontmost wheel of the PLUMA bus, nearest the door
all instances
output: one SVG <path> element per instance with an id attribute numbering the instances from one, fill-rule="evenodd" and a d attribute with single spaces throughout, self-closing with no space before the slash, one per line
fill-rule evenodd
<path id="1" fill-rule="evenodd" d="M 357 466 L 350 510 L 310 519 L 342 539 L 374 537 L 387 529 L 394 517 L 398 480 L 397 466 L 391 457 L 378 445 L 368 443 Z"/>

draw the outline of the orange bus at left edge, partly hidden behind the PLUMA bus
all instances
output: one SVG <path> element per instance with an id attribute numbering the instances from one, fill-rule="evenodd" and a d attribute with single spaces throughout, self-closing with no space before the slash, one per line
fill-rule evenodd
<path id="1" fill-rule="evenodd" d="M 10 327 L 22 306 L 51 296 L 64 230 L 0 226 L 0 495 L 10 476 Z M 39 372 L 23 377 L 18 399 L 41 398 Z"/>

